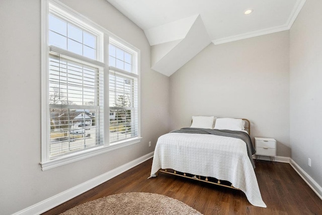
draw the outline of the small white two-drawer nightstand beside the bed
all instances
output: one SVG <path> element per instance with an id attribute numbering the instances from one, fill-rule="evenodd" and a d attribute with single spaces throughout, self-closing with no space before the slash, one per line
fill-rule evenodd
<path id="1" fill-rule="evenodd" d="M 274 161 L 274 156 L 276 156 L 276 140 L 273 138 L 255 137 L 255 147 L 256 147 L 256 160 L 259 159 L 261 155 L 269 156 L 271 161 Z"/>

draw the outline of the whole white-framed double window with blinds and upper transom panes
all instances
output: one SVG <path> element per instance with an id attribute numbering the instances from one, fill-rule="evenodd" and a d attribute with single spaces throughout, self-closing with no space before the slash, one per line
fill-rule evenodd
<path id="1" fill-rule="evenodd" d="M 139 50 L 61 3 L 48 3 L 42 10 L 43 170 L 141 138 Z"/>

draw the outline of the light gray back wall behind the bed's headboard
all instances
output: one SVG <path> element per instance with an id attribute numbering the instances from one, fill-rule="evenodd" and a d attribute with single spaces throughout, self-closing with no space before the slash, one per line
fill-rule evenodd
<path id="1" fill-rule="evenodd" d="M 170 92 L 171 129 L 194 115 L 248 118 L 253 137 L 290 156 L 288 31 L 210 44 L 170 77 Z"/>

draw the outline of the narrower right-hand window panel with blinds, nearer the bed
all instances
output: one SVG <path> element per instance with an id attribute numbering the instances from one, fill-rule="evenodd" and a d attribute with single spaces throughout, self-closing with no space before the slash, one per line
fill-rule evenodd
<path id="1" fill-rule="evenodd" d="M 110 142 L 138 136 L 138 76 L 135 74 L 136 55 L 124 45 L 110 40 L 109 103 Z"/>

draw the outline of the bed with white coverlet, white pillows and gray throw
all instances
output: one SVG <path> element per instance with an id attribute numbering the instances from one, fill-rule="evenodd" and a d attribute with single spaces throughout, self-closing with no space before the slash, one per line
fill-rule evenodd
<path id="1" fill-rule="evenodd" d="M 161 171 L 239 189 L 251 204 L 266 207 L 254 171 L 250 125 L 247 119 L 193 117 L 191 127 L 158 138 L 151 177 Z"/>

